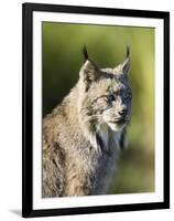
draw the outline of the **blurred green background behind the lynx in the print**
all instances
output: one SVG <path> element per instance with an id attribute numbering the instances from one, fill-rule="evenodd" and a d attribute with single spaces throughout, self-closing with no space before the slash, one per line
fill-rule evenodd
<path id="1" fill-rule="evenodd" d="M 126 45 L 130 46 L 133 101 L 129 148 L 121 152 L 108 193 L 154 191 L 154 29 L 50 22 L 42 25 L 43 117 L 78 81 L 84 44 L 100 67 L 118 65 L 124 60 Z"/>

